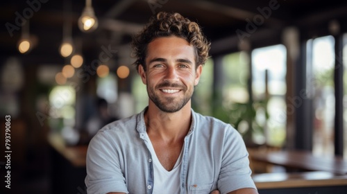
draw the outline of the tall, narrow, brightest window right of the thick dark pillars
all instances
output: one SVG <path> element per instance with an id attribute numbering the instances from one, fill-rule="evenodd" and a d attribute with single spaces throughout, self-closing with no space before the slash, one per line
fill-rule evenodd
<path id="1" fill-rule="evenodd" d="M 335 39 L 318 37 L 307 41 L 307 89 L 313 99 L 314 155 L 334 155 Z"/>

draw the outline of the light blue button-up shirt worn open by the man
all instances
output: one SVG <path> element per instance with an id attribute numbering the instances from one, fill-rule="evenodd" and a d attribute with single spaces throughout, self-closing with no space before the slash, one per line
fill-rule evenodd
<path id="1" fill-rule="evenodd" d="M 145 111 L 106 125 L 90 141 L 87 193 L 152 193 L 155 177 L 145 141 Z M 218 189 L 223 194 L 239 188 L 255 188 L 248 152 L 239 132 L 192 110 L 176 193 L 207 194 Z"/>

